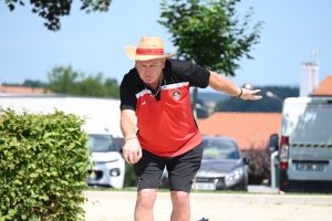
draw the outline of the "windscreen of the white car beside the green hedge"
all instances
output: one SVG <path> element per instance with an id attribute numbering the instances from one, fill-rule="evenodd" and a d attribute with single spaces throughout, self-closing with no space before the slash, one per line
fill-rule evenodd
<path id="1" fill-rule="evenodd" d="M 110 135 L 90 134 L 87 146 L 93 152 L 115 151 L 115 144 Z"/>

